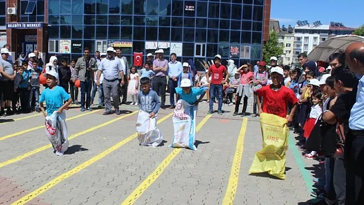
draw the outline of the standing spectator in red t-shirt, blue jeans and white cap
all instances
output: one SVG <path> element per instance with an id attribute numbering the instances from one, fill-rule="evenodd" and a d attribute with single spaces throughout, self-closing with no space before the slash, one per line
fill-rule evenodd
<path id="1" fill-rule="evenodd" d="M 209 71 L 206 72 L 207 82 L 210 83 L 210 109 L 207 114 L 212 114 L 213 101 L 215 98 L 215 92 L 217 92 L 217 98 L 219 99 L 219 106 L 217 108 L 217 112 L 219 115 L 223 115 L 222 107 L 223 107 L 223 84 L 227 82 L 229 79 L 229 73 L 225 66 L 221 65 L 221 55 L 215 55 L 214 65 L 209 68 Z M 225 79 L 224 79 L 225 73 Z M 209 76 L 211 75 L 211 81 Z"/>

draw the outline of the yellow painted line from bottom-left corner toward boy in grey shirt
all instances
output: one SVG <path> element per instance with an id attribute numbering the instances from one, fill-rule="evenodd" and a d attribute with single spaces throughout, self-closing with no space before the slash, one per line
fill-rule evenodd
<path id="1" fill-rule="evenodd" d="M 135 111 L 132 114 L 135 114 L 137 112 L 138 111 Z M 132 115 L 132 114 L 128 114 L 128 115 Z M 172 115 L 173 115 L 173 113 L 161 118 L 160 120 L 158 120 L 157 123 L 159 124 L 159 123 L 165 121 L 166 119 L 168 119 Z M 72 170 L 70 170 L 70 171 L 68 171 L 68 172 L 66 172 L 64 174 L 61 174 L 60 176 L 58 176 L 58 177 L 54 178 L 53 180 L 49 181 L 48 183 L 44 184 L 42 187 L 38 188 L 37 190 L 27 194 L 26 196 L 22 197 L 19 200 L 13 202 L 12 205 L 14 205 L 14 204 L 22 205 L 22 204 L 27 203 L 28 201 L 32 200 L 33 198 L 39 196 L 40 194 L 42 194 L 45 191 L 49 190 L 50 188 L 54 187 L 59 182 L 61 182 L 61 181 L 65 180 L 65 179 L 67 179 L 68 177 L 80 172 L 81 170 L 85 169 L 87 166 L 97 162 L 98 160 L 102 159 L 106 155 L 114 152 L 115 150 L 120 148 L 122 145 L 126 144 L 127 142 L 130 142 L 132 139 L 134 139 L 137 136 L 138 136 L 138 134 L 134 133 L 133 135 L 129 136 L 128 138 L 123 139 L 122 141 L 118 142 L 117 144 L 113 145 L 112 147 L 108 148 L 107 150 L 103 151 L 102 153 L 100 153 L 100 154 L 96 155 L 95 157 L 83 162 L 82 164 L 76 166 L 74 169 L 72 169 Z"/>

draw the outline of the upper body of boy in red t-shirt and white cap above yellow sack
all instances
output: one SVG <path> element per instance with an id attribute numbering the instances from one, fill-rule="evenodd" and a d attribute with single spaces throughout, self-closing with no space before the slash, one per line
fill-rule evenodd
<path id="1" fill-rule="evenodd" d="M 292 122 L 293 115 L 297 108 L 298 99 L 295 96 L 293 90 L 282 85 L 283 69 L 280 67 L 274 67 L 270 70 L 270 77 L 272 84 L 264 86 L 257 90 L 257 104 L 258 115 L 262 112 L 277 115 L 282 118 L 286 118 L 287 105 L 292 103 L 294 106 L 290 110 L 287 117 L 288 123 Z M 260 102 L 260 97 L 263 97 L 263 110 Z"/>

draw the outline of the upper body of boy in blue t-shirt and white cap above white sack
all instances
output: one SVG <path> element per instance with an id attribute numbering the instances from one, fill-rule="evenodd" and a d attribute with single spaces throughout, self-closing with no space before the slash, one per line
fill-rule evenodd
<path id="1" fill-rule="evenodd" d="M 198 103 L 204 98 L 206 91 L 204 88 L 196 88 L 191 86 L 191 80 L 186 78 L 181 80 L 180 87 L 176 87 L 175 90 L 180 96 L 180 99 L 188 102 L 190 105 L 198 105 Z M 198 100 L 197 96 L 200 96 Z"/>

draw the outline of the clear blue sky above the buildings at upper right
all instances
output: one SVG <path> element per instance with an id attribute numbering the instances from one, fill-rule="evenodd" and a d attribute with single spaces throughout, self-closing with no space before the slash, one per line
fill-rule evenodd
<path id="1" fill-rule="evenodd" d="M 271 0 L 270 18 L 278 20 L 281 27 L 307 20 L 310 24 L 339 22 L 356 28 L 364 24 L 363 8 L 364 0 Z"/>

